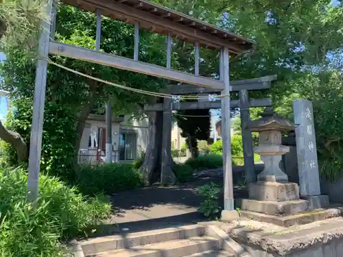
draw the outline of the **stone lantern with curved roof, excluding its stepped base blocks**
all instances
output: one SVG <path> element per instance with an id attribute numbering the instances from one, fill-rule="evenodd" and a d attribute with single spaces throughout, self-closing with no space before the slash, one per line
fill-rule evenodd
<path id="1" fill-rule="evenodd" d="M 254 152 L 264 162 L 264 169 L 257 175 L 257 181 L 287 182 L 287 175 L 281 171 L 279 164 L 283 154 L 289 152 L 289 147 L 281 145 L 281 133 L 294 130 L 296 126 L 279 117 L 271 107 L 265 108 L 261 116 L 261 119 L 248 124 L 249 130 L 259 132 L 259 146 L 254 147 Z"/>

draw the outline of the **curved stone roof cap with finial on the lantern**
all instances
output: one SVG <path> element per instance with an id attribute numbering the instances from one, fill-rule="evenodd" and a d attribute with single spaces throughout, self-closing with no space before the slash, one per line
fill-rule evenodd
<path id="1" fill-rule="evenodd" d="M 248 123 L 248 129 L 252 132 L 262 132 L 267 130 L 277 130 L 281 132 L 287 132 L 294 130 L 296 125 L 287 119 L 280 117 L 271 107 L 267 107 L 260 114 L 260 119 L 250 121 Z"/>

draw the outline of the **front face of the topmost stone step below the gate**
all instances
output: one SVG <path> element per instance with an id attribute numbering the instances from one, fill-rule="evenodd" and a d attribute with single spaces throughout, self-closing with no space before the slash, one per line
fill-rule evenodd
<path id="1" fill-rule="evenodd" d="M 123 249 L 138 245 L 150 245 L 180 238 L 203 236 L 205 228 L 202 225 L 183 225 L 174 228 L 163 228 L 161 230 L 147 230 L 128 234 L 117 234 L 113 236 L 102 236 L 80 241 L 84 255 L 96 254 L 97 252 L 108 252 L 115 249 Z"/>

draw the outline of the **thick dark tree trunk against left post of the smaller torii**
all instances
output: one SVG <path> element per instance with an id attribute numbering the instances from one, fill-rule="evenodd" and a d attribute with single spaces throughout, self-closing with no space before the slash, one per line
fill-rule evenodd
<path id="1" fill-rule="evenodd" d="M 150 112 L 148 117 L 148 144 L 140 168 L 145 186 L 149 186 L 161 178 L 163 112 Z"/>

